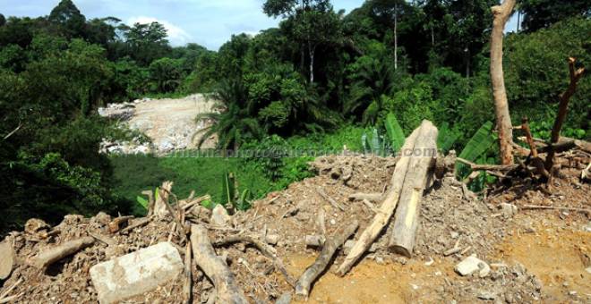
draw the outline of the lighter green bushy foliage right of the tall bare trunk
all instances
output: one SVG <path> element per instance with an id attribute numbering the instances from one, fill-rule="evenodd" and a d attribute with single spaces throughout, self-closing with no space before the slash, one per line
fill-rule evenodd
<path id="1" fill-rule="evenodd" d="M 570 82 L 567 58 L 573 56 L 578 64 L 591 66 L 589 32 L 591 20 L 570 19 L 535 33 L 508 38 L 505 82 L 514 120 L 527 115 L 530 122 L 553 121 L 560 94 Z M 570 98 L 565 127 L 589 130 L 589 96 L 591 78 L 583 77 Z"/>

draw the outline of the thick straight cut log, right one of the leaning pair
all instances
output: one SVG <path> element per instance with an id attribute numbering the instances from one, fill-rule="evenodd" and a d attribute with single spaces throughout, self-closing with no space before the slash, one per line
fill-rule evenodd
<path id="1" fill-rule="evenodd" d="M 415 141 L 415 150 L 437 149 L 437 128 L 424 125 Z M 410 258 L 415 247 L 415 233 L 421 210 L 421 198 L 429 175 L 433 174 L 435 156 L 413 156 L 408 165 L 400 193 L 398 208 L 394 215 L 394 230 L 390 235 L 390 249 Z"/>

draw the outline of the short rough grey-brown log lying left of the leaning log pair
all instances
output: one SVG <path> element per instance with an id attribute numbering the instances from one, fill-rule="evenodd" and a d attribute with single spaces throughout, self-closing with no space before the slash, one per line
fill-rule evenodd
<path id="1" fill-rule="evenodd" d="M 304 274 L 300 276 L 300 279 L 295 284 L 295 295 L 301 298 L 307 298 L 310 294 L 310 286 L 312 283 L 324 272 L 327 266 L 329 266 L 332 256 L 334 256 L 337 249 L 341 247 L 348 238 L 355 233 L 359 223 L 354 221 L 352 224 L 347 225 L 343 229 L 339 229 L 333 236 L 324 242 L 320 256 L 316 258 L 314 264 L 308 266 L 304 271 Z"/>

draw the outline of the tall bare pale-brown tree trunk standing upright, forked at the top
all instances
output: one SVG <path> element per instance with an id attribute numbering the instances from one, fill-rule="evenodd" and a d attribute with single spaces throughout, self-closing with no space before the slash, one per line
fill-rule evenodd
<path id="1" fill-rule="evenodd" d="M 505 24 L 514 6 L 515 0 L 504 0 L 501 5 L 491 8 L 494 16 L 491 34 L 491 81 L 502 165 L 513 164 L 513 130 L 502 71 L 502 39 Z"/>

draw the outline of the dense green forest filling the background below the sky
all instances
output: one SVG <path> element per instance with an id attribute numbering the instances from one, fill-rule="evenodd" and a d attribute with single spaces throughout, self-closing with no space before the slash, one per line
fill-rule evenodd
<path id="1" fill-rule="evenodd" d="M 235 35 L 218 51 L 172 47 L 158 22 L 89 20 L 71 0 L 39 18 L 0 14 L 0 210 L 8 219 L 0 231 L 31 216 L 131 212 L 99 143 L 133 134 L 96 109 L 138 97 L 213 93 L 219 113 L 197 119 L 215 122 L 219 148 L 355 147 L 364 130 L 385 132 L 394 114 L 406 134 L 423 119 L 445 126 L 459 150 L 494 118 L 494 4 L 368 0 L 345 13 L 329 0 L 267 0 L 261 10 L 278 28 Z M 569 83 L 567 57 L 591 66 L 591 4 L 522 0 L 515 13 L 521 22 L 504 54 L 512 118 L 527 115 L 535 137 L 547 139 Z M 590 97 L 586 77 L 564 135 L 589 139 Z M 308 176 L 305 160 L 255 160 L 273 182 L 259 194 Z"/>

